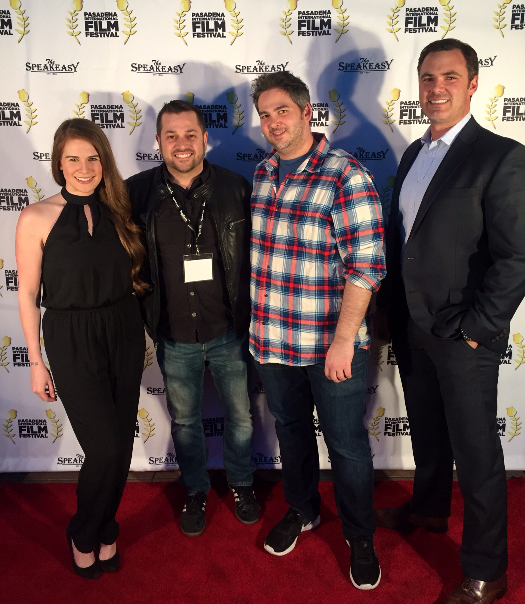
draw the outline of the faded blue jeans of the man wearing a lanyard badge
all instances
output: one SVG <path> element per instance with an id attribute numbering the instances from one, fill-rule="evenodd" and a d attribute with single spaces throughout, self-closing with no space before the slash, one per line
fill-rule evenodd
<path id="1" fill-rule="evenodd" d="M 250 486 L 253 423 L 248 397 L 248 335 L 237 339 L 231 330 L 205 344 L 184 344 L 159 338 L 157 360 L 166 386 L 172 437 L 181 480 L 193 495 L 210 490 L 206 470 L 208 447 L 202 426 L 204 368 L 210 367 L 224 410 L 222 446 L 231 486 Z"/>

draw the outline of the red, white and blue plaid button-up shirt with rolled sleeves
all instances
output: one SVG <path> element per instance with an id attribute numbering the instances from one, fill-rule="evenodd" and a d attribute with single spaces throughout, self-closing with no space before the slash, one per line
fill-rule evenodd
<path id="1" fill-rule="evenodd" d="M 312 154 L 280 186 L 275 150 L 253 178 L 250 351 L 261 363 L 323 362 L 345 280 L 376 291 L 385 275 L 381 202 L 372 176 L 326 137 L 316 140 Z M 369 345 L 365 317 L 355 346 Z"/>

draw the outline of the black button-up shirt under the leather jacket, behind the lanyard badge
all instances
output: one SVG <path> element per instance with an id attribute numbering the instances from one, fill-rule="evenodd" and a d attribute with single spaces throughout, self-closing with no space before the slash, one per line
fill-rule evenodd
<path id="1" fill-rule="evenodd" d="M 172 184 L 182 211 L 198 231 L 202 211 L 198 188 L 210 178 L 210 165 L 204 160 L 201 174 L 187 190 L 172 181 L 166 164 L 163 173 Z M 159 332 L 186 344 L 204 344 L 233 329 L 219 236 L 208 207 L 204 210 L 199 249 L 201 254 L 213 254 L 212 281 L 184 283 L 182 256 L 195 254 L 196 236 L 182 220 L 171 197 L 159 202 L 155 222 L 161 298 Z"/>

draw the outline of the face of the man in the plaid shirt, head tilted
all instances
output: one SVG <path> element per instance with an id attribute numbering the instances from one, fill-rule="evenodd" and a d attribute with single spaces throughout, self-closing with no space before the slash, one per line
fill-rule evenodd
<path id="1" fill-rule="evenodd" d="M 293 159 L 308 152 L 312 145 L 310 103 L 301 110 L 288 92 L 270 88 L 261 92 L 257 106 L 263 137 L 282 159 Z"/>

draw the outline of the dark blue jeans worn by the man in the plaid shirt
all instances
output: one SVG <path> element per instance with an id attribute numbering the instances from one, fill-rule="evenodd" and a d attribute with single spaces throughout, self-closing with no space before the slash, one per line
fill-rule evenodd
<path id="1" fill-rule="evenodd" d="M 368 356 L 367 350 L 355 349 L 352 377 L 339 384 L 324 375 L 324 363 L 292 367 L 256 361 L 268 408 L 275 417 L 287 503 L 309 520 L 319 514 L 315 405 L 346 539 L 371 537 L 376 528 L 372 454 L 364 427 Z"/>

